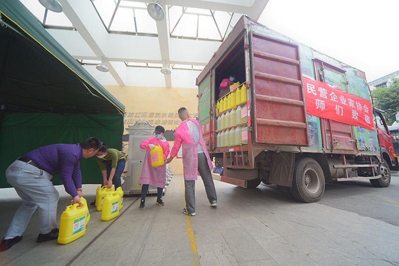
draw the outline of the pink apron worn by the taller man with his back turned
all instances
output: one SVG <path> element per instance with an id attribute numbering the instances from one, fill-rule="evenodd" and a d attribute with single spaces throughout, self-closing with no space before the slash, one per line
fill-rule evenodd
<path id="1" fill-rule="evenodd" d="M 183 149 L 183 174 L 185 180 L 197 180 L 198 178 L 198 151 L 197 144 L 200 143 L 203 152 L 206 156 L 209 170 L 212 171 L 213 165 L 210 160 L 208 151 L 206 150 L 205 142 L 202 139 L 202 131 L 200 123 L 194 119 L 188 119 L 196 123 L 200 128 L 200 140 L 195 142 L 187 126 L 187 120 L 183 121 L 175 131 L 175 143 L 171 150 L 171 156 L 176 157 L 180 146 Z"/>

